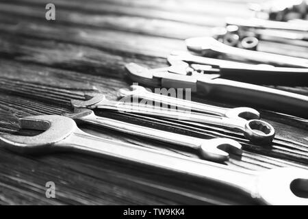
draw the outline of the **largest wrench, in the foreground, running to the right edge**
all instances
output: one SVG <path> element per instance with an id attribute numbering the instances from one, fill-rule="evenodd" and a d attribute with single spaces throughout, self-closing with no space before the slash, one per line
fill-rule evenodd
<path id="1" fill-rule="evenodd" d="M 20 118 L 21 128 L 44 131 L 38 136 L 1 135 L 0 144 L 16 153 L 76 151 L 108 157 L 140 166 L 177 172 L 186 177 L 214 181 L 235 188 L 261 203 L 270 205 L 308 205 L 308 171 L 300 168 L 275 168 L 263 171 L 235 170 L 229 166 L 172 155 L 133 144 L 113 142 L 89 135 L 65 116 L 29 116 Z"/>

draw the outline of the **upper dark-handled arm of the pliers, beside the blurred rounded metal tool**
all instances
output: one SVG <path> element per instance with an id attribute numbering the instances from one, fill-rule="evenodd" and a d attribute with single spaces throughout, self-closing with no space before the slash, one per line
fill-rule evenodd
<path id="1" fill-rule="evenodd" d="M 277 79 L 277 81 L 278 79 L 283 80 L 292 78 L 308 80 L 308 68 L 285 68 L 269 64 L 247 64 L 211 57 L 201 57 L 184 51 L 172 51 L 170 55 L 168 55 L 167 60 L 170 64 L 174 65 L 179 61 L 188 62 L 188 64 L 191 64 L 191 67 L 197 72 L 207 74 L 219 74 L 235 77 L 258 77 L 263 78 L 264 81 L 271 77 Z M 183 66 L 183 64 L 181 64 L 181 68 L 185 67 L 186 69 L 188 68 L 188 66 Z M 175 72 L 175 70 L 173 70 L 173 72 Z M 182 72 L 183 70 L 181 69 L 178 74 L 183 75 Z M 187 72 L 184 75 L 187 75 Z"/>

